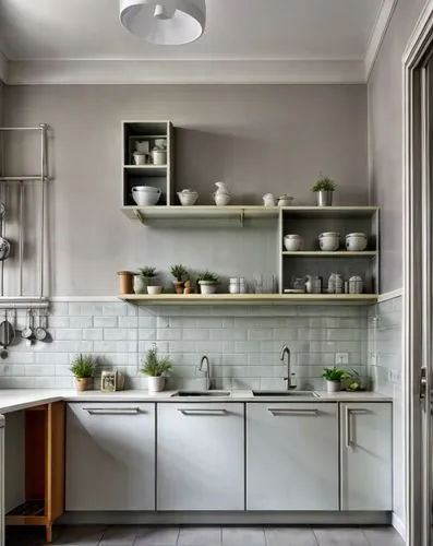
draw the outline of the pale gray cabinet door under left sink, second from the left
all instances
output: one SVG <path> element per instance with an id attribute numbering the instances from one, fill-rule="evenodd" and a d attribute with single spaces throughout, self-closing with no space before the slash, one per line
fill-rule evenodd
<path id="1" fill-rule="evenodd" d="M 158 404 L 157 509 L 244 509 L 243 404 Z"/>

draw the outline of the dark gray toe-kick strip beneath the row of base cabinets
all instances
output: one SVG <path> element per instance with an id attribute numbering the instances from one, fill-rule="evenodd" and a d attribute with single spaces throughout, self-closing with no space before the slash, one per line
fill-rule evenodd
<path id="1" fill-rule="evenodd" d="M 390 525 L 390 512 L 67 512 L 64 525 Z"/>

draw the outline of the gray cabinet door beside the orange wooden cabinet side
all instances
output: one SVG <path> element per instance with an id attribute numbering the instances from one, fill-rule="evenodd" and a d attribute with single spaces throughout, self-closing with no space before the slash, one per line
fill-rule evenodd
<path id="1" fill-rule="evenodd" d="M 67 510 L 155 510 L 155 404 L 68 404 Z"/>

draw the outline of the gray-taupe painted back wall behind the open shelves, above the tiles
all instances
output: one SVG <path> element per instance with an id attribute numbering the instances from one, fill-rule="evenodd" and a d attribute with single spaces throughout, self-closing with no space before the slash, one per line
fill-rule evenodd
<path id="1" fill-rule="evenodd" d="M 116 271 L 144 264 L 167 270 L 182 262 L 246 277 L 276 273 L 275 224 L 156 230 L 120 213 L 123 119 L 180 127 L 177 187 L 197 189 L 202 203 L 218 179 L 238 202 L 262 203 L 270 191 L 313 203 L 309 189 L 320 170 L 338 181 L 337 204 L 368 203 L 364 85 L 7 87 L 8 124 L 52 127 L 51 295 L 117 294 Z M 10 146 L 9 173 L 31 171 L 35 150 L 31 142 Z M 28 218 L 34 209 L 32 200 Z M 12 278 L 8 288 L 14 289 Z"/>

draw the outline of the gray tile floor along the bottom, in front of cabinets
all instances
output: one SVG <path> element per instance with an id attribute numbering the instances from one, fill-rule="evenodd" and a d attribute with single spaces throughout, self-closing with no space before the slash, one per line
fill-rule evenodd
<path id="1" fill-rule="evenodd" d="M 44 530 L 15 530 L 8 546 L 40 546 Z M 404 546 L 393 527 L 140 526 L 55 527 L 55 546 Z"/>

